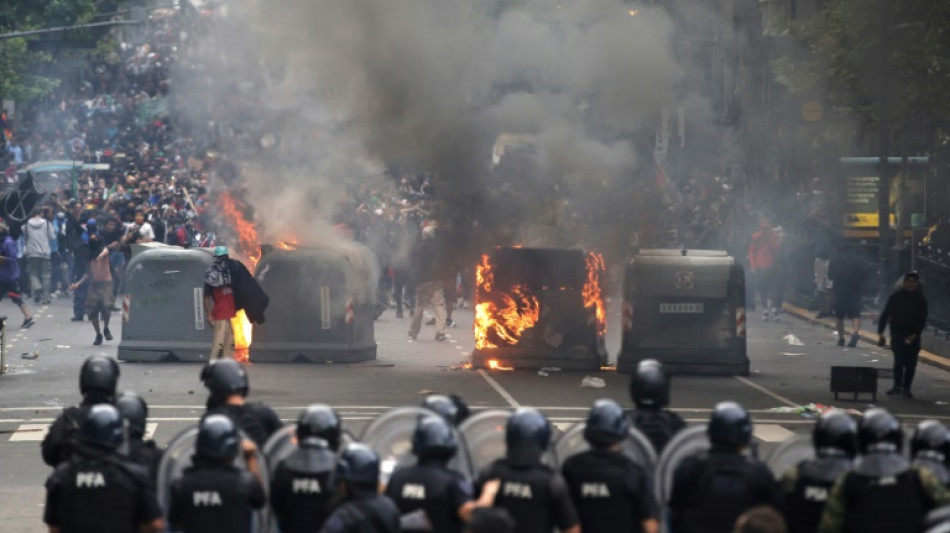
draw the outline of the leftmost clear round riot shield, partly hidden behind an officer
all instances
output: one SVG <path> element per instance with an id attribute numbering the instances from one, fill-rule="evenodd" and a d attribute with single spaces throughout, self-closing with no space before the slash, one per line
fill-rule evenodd
<path id="1" fill-rule="evenodd" d="M 247 438 L 243 432 L 243 438 Z M 191 466 L 191 456 L 195 453 L 195 441 L 198 438 L 198 426 L 193 425 L 183 429 L 178 435 L 175 435 L 168 443 L 165 454 L 162 456 L 162 462 L 158 465 L 158 476 L 156 479 L 156 491 L 158 492 L 158 503 L 162 512 L 168 518 L 168 508 L 171 501 L 172 482 L 184 473 L 185 469 Z M 270 479 L 267 460 L 260 450 L 257 451 L 257 462 L 261 467 L 261 474 L 265 480 Z M 238 468 L 244 468 L 244 458 L 239 453 L 234 459 L 234 465 Z M 264 494 L 268 497 L 270 492 L 270 483 L 263 483 Z M 260 511 L 256 511 L 253 516 L 252 531 L 254 533 L 266 533 L 267 526 L 270 523 L 270 508 L 265 506 Z"/>

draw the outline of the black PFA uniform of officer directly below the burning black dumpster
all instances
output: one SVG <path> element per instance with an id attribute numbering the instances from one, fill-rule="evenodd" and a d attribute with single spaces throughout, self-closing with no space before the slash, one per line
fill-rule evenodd
<path id="1" fill-rule="evenodd" d="M 501 481 L 495 507 L 511 514 L 518 533 L 550 533 L 555 527 L 563 531 L 578 523 L 567 483 L 550 467 L 538 461 L 499 459 L 479 476 L 477 492 L 493 479 Z"/>

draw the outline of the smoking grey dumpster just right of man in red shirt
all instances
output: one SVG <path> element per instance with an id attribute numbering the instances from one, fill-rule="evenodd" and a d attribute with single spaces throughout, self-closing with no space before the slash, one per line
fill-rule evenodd
<path id="1" fill-rule="evenodd" d="M 354 363 L 376 359 L 376 258 L 348 244 L 262 247 L 255 276 L 270 296 L 254 327 L 256 362 Z"/>

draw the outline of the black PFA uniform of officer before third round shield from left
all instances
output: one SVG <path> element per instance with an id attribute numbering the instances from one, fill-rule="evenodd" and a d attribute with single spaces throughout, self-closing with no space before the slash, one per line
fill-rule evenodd
<path id="1" fill-rule="evenodd" d="M 458 511 L 472 501 L 473 487 L 461 474 L 446 468 L 444 460 L 420 459 L 418 464 L 393 473 L 386 496 L 403 515 L 424 511 L 432 531 L 460 533 L 464 524 Z"/>

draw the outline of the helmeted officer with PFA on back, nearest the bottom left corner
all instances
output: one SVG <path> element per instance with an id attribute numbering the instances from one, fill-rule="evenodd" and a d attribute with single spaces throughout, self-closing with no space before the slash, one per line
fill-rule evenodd
<path id="1" fill-rule="evenodd" d="M 87 411 L 73 453 L 46 481 L 43 521 L 51 532 L 164 529 L 148 472 L 116 451 L 122 424 L 112 405 Z"/>

